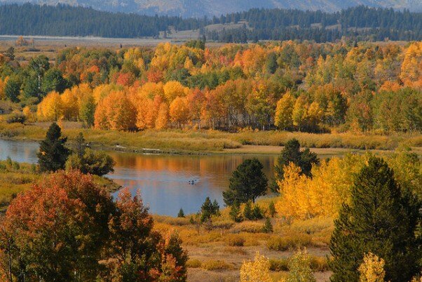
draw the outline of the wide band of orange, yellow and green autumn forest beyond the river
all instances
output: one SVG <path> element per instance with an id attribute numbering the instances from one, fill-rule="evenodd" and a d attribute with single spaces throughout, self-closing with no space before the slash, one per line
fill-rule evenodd
<path id="1" fill-rule="evenodd" d="M 112 130 L 422 130 L 422 43 L 170 43 L 1 56 L 0 98 L 27 119 Z"/>

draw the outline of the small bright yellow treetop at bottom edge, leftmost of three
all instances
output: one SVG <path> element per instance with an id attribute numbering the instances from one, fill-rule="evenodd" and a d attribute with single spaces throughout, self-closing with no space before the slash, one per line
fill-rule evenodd
<path id="1" fill-rule="evenodd" d="M 270 262 L 264 255 L 255 255 L 253 262 L 243 262 L 240 268 L 240 282 L 272 282 Z"/>

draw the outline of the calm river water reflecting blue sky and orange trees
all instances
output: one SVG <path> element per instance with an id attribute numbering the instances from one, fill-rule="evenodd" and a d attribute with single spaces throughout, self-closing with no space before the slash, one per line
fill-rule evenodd
<path id="1" fill-rule="evenodd" d="M 35 163 L 39 144 L 0 140 L 0 159 Z M 245 159 L 256 157 L 271 176 L 276 156 L 221 154 L 209 156 L 157 155 L 109 152 L 116 161 L 114 173 L 107 175 L 133 194 L 140 189 L 151 213 L 177 215 L 196 213 L 207 196 L 223 206 L 222 191 L 229 186 L 233 170 Z M 194 180 L 195 184 L 190 184 Z"/>

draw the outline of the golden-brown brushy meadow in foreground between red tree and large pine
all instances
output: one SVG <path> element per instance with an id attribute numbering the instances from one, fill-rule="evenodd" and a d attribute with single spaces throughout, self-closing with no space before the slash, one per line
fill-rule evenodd
<path id="1" fill-rule="evenodd" d="M 275 200 L 263 199 L 257 205 L 268 215 L 268 204 Z M 242 263 L 252 260 L 257 252 L 268 257 L 271 278 L 279 281 L 289 271 L 288 261 L 298 248 L 306 248 L 311 255 L 317 281 L 327 281 L 330 275 L 327 255 L 334 228 L 331 218 L 293 222 L 271 218 L 271 234 L 262 229 L 265 220 L 233 222 L 229 209 L 212 217 L 212 226 L 192 223 L 189 215 L 184 218 L 154 215 L 154 221 L 158 231 L 177 231 L 182 239 L 189 252 L 189 281 L 239 281 Z"/>

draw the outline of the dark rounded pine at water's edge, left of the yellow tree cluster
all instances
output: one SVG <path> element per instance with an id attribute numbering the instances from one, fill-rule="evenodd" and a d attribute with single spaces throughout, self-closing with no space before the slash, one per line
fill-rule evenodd
<path id="1" fill-rule="evenodd" d="M 229 190 L 223 192 L 224 203 L 255 202 L 259 196 L 264 196 L 268 187 L 268 179 L 262 171 L 262 163 L 257 159 L 247 159 L 236 168 L 230 179 Z"/>

